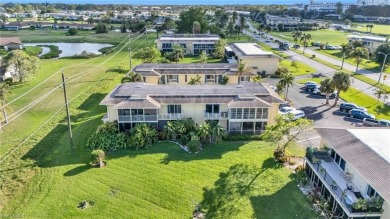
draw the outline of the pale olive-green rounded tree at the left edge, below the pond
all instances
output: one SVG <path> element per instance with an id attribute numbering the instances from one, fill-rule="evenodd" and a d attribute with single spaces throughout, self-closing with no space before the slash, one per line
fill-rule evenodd
<path id="1" fill-rule="evenodd" d="M 39 68 L 39 59 L 35 56 L 30 56 L 22 50 L 14 50 L 10 52 L 4 59 L 6 69 L 12 68 L 12 77 L 18 78 L 19 82 L 28 80 L 35 74 Z"/>

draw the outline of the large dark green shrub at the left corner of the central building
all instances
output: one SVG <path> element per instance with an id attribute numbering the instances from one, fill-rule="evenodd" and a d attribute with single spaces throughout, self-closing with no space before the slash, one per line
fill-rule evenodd
<path id="1" fill-rule="evenodd" d="M 126 136 L 118 130 L 116 123 L 105 123 L 98 126 L 87 141 L 87 147 L 104 151 L 115 151 L 127 148 Z"/>

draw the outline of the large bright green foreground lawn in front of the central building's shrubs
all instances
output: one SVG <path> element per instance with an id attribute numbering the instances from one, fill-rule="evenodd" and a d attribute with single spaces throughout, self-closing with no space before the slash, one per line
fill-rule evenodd
<path id="1" fill-rule="evenodd" d="M 316 218 L 293 174 L 278 167 L 272 158 L 274 146 L 266 143 L 223 142 L 198 154 L 158 143 L 149 150 L 108 153 L 105 168 L 91 169 L 83 145 L 74 156 L 67 142 L 65 136 L 53 142 L 55 154 L 4 213 L 188 218 L 200 203 L 212 218 Z M 94 206 L 78 209 L 83 200 Z"/>

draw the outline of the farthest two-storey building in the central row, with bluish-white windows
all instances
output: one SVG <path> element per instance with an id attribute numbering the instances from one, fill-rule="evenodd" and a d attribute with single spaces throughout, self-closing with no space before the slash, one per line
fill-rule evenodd
<path id="1" fill-rule="evenodd" d="M 213 34 L 164 34 L 156 42 L 157 49 L 163 52 L 172 52 L 173 45 L 179 44 L 185 54 L 198 55 L 203 50 L 213 53 L 218 40 L 220 37 Z"/>

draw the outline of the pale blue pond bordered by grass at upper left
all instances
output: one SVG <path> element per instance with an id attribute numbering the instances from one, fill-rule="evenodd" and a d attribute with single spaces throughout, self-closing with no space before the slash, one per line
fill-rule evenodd
<path id="1" fill-rule="evenodd" d="M 114 46 L 111 44 L 104 44 L 104 43 L 25 43 L 24 45 L 25 46 L 37 46 L 37 45 L 58 46 L 58 49 L 62 50 L 62 52 L 59 55 L 59 58 L 74 56 L 76 54 L 80 54 L 84 50 L 89 53 L 102 54 L 101 52 L 99 52 L 99 49 Z M 41 48 L 43 49 L 41 55 L 50 52 L 50 49 L 48 47 L 41 47 Z"/>

